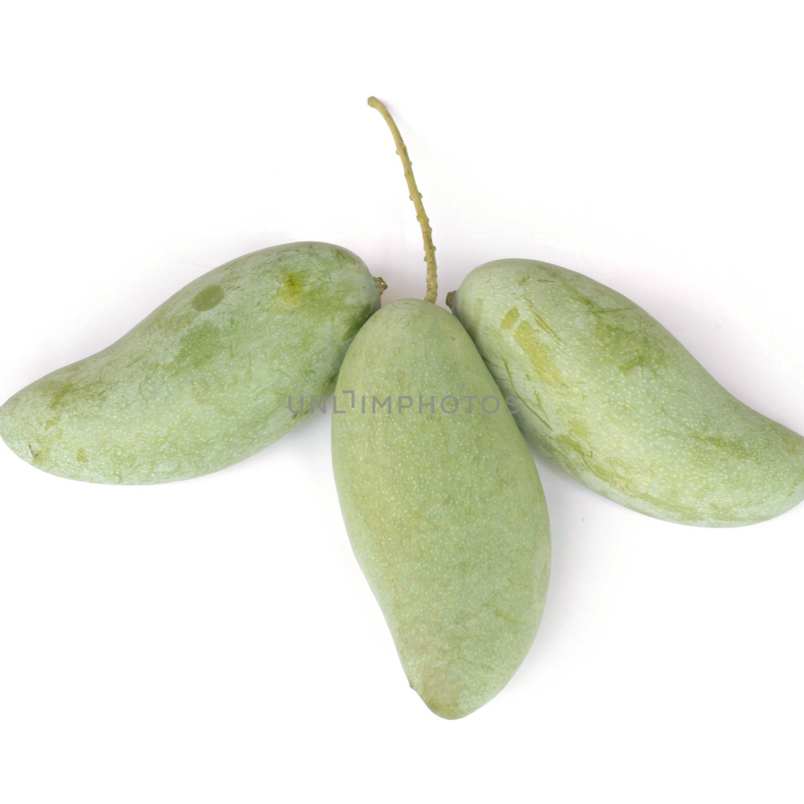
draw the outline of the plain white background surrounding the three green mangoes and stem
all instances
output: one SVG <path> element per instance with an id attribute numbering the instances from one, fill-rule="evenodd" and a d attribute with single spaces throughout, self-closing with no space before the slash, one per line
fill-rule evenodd
<path id="1" fill-rule="evenodd" d="M 638 301 L 804 430 L 804 69 L 781 2 L 43 2 L 0 47 L 0 397 L 191 279 L 329 240 L 441 296 L 532 257 Z M 800 10 L 800 9 L 798 9 Z M 552 586 L 465 720 L 408 688 L 351 555 L 328 416 L 206 478 L 0 449 L 0 799 L 800 802 L 804 507 L 702 530 L 537 456 Z"/>

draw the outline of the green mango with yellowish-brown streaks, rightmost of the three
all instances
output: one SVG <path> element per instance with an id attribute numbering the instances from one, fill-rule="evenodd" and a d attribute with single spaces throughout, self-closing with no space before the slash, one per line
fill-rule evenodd
<path id="1" fill-rule="evenodd" d="M 536 260 L 474 269 L 452 300 L 523 432 L 616 503 L 704 527 L 804 498 L 804 438 L 736 400 L 661 324 Z"/>

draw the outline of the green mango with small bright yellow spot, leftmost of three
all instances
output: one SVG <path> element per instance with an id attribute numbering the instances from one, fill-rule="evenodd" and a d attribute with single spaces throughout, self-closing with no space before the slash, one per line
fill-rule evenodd
<path id="1" fill-rule="evenodd" d="M 0 408 L 20 457 L 65 478 L 161 483 L 223 469 L 309 412 L 288 397 L 334 388 L 351 339 L 379 308 L 346 248 L 264 248 L 192 281 L 116 343 Z"/>

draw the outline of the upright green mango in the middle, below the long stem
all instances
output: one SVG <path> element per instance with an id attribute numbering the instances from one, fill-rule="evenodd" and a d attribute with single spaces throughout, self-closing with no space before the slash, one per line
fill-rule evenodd
<path id="1" fill-rule="evenodd" d="M 511 413 L 478 409 L 499 389 L 457 318 L 429 302 L 394 301 L 367 322 L 338 377 L 347 391 L 355 407 L 340 394 L 332 455 L 352 548 L 411 687 L 437 715 L 466 716 L 511 679 L 539 625 L 550 567 L 539 474 Z M 371 413 L 372 395 L 396 408 Z M 446 395 L 478 400 L 444 413 Z M 399 412 L 400 396 L 413 408 Z M 419 412 L 419 396 L 435 396 L 435 412 Z"/>

